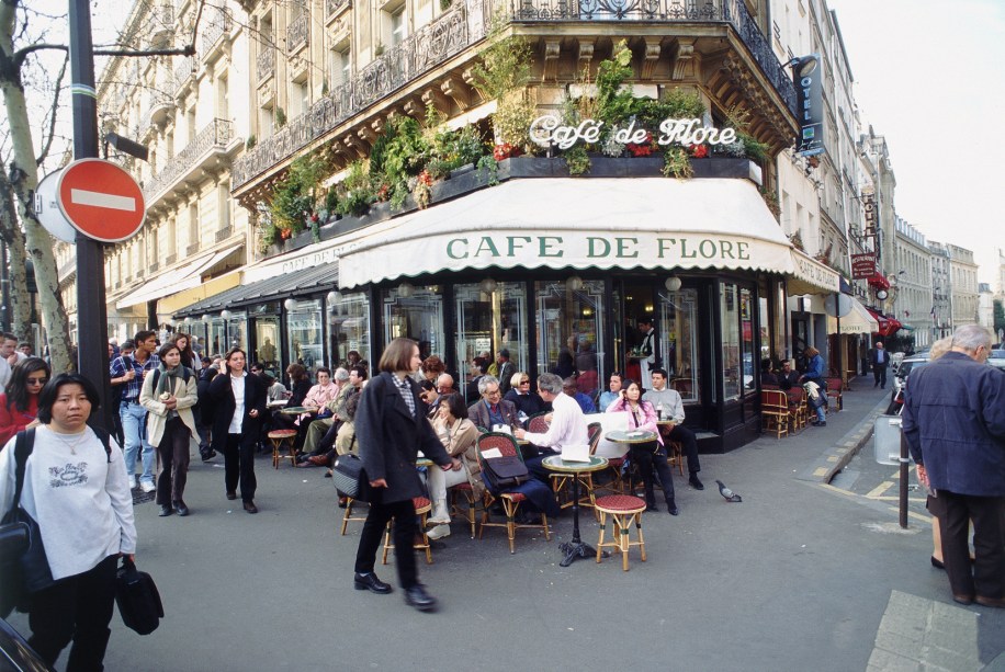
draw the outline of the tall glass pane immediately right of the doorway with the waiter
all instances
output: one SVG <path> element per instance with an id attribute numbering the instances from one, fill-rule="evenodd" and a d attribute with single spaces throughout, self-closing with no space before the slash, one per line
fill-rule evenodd
<path id="1" fill-rule="evenodd" d="M 700 398 L 698 377 L 698 292 L 680 289 L 659 292 L 659 352 L 663 367 L 669 376 L 669 387 L 680 394 L 684 401 Z"/>

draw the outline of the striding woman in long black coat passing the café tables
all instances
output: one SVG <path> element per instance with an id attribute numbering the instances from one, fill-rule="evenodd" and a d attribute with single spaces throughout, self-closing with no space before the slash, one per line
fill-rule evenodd
<path id="1" fill-rule="evenodd" d="M 418 343 L 393 340 L 381 356 L 381 374 L 361 392 L 355 434 L 373 497 L 360 536 L 353 583 L 357 590 L 391 592 L 391 585 L 373 573 L 373 566 L 387 521 L 394 519 L 394 557 L 405 602 L 428 611 L 437 601 L 419 583 L 413 549 L 418 528 L 411 499 L 422 494 L 415 463 L 419 451 L 441 466 L 458 460 L 443 449 L 426 419 L 426 405 L 413 378 L 421 362 Z"/>

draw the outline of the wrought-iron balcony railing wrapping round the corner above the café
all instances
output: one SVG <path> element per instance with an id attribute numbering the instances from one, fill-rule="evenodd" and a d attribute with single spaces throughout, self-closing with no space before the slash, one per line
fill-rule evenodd
<path id="1" fill-rule="evenodd" d="M 334 0 L 331 0 L 334 1 Z M 640 22 L 731 26 L 790 113 L 795 115 L 795 88 L 747 11 L 744 0 L 455 0 L 437 21 L 388 48 L 355 77 L 332 87 L 302 117 L 245 152 L 232 169 L 232 187 L 240 189 L 306 145 L 331 133 L 361 110 L 387 98 L 437 66 L 482 41 L 498 8 L 509 21 L 538 24 Z M 326 3 L 326 11 L 328 4 Z M 291 30 L 292 30 L 291 25 Z M 707 32 L 707 31 L 705 31 Z M 668 35 L 673 30 L 668 30 Z M 289 39 L 290 35 L 287 35 Z M 287 47 L 290 46 L 287 42 Z"/>

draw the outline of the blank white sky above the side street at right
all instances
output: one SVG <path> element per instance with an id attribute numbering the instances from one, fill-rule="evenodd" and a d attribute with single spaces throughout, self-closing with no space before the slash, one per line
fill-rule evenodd
<path id="1" fill-rule="evenodd" d="M 887 138 L 897 214 L 973 250 L 995 289 L 1005 249 L 1005 2 L 828 0 L 863 124 Z"/>

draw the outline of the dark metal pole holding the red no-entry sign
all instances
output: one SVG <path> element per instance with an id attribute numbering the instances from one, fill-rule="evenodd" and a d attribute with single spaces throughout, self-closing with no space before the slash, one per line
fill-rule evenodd
<path id="1" fill-rule="evenodd" d="M 98 93 L 88 0 L 69 0 L 70 93 L 74 110 L 74 158 L 98 157 Z M 77 234 L 77 353 L 78 371 L 98 388 L 102 408 L 111 398 L 109 324 L 104 294 L 103 244 Z M 91 424 L 104 428 L 103 412 Z"/>

